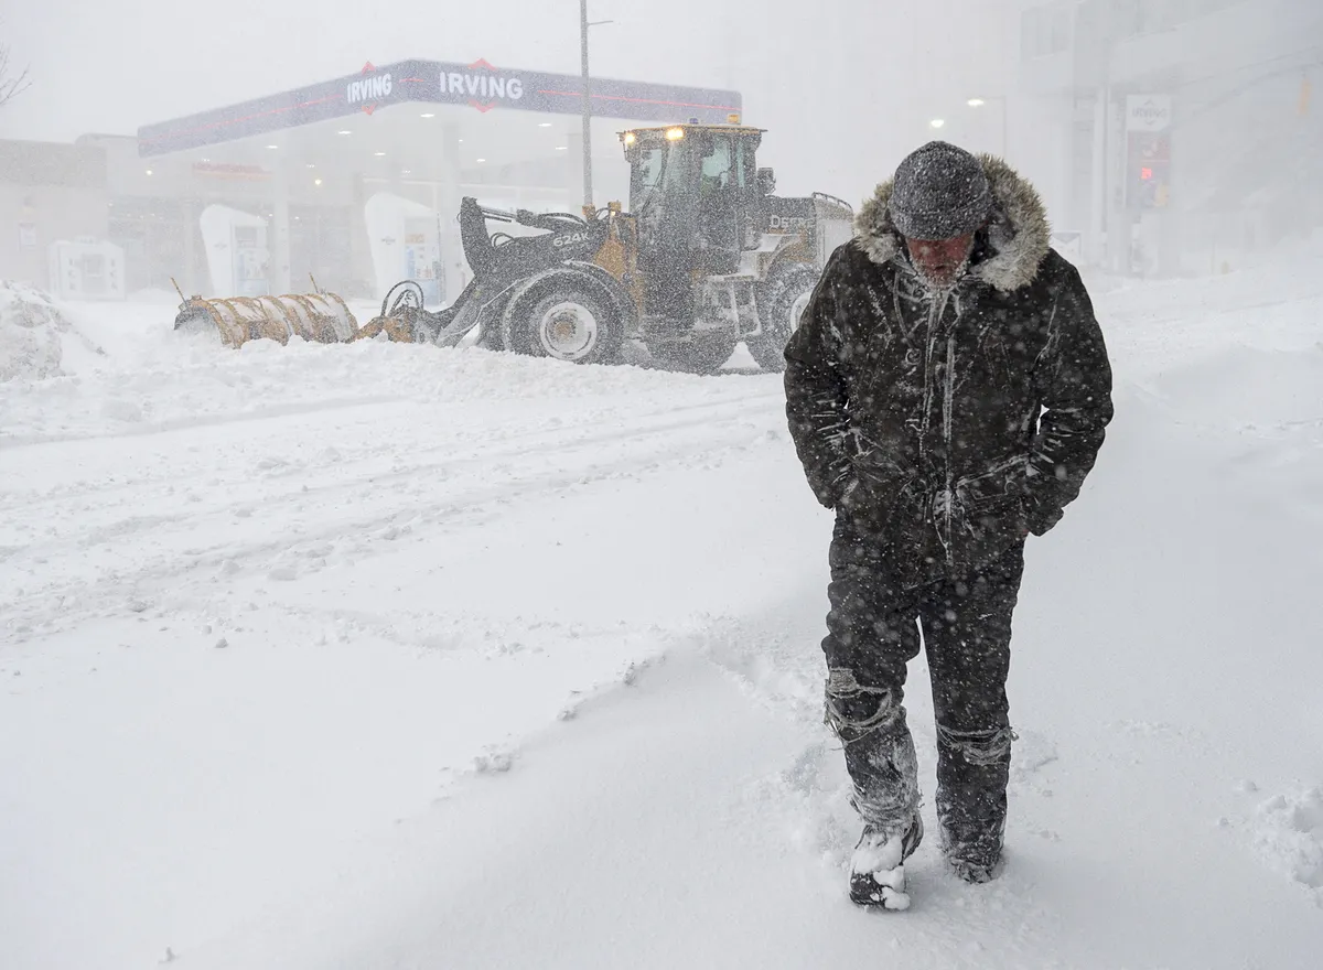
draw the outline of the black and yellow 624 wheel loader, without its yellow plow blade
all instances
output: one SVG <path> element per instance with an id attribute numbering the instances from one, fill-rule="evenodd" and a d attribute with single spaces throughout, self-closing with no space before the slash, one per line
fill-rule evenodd
<path id="1" fill-rule="evenodd" d="M 620 132 L 628 212 L 583 216 L 484 209 L 464 198 L 460 240 L 474 278 L 439 312 L 398 283 L 359 337 L 455 345 L 475 327 L 483 347 L 611 364 L 627 339 L 696 373 L 717 371 L 745 341 L 767 371 L 799 322 L 827 257 L 852 233 L 853 210 L 815 192 L 774 195 L 758 168 L 761 128 L 675 124 Z M 488 234 L 519 224 L 537 236 Z"/>

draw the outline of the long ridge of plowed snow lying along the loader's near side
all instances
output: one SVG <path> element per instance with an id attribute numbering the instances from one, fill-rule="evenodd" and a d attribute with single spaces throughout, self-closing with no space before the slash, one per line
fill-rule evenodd
<path id="1" fill-rule="evenodd" d="M 118 341 L 118 343 L 115 343 Z M 398 402 L 402 421 L 445 422 L 447 409 L 486 402 L 647 398 L 688 386 L 700 398 L 750 380 L 705 380 L 636 367 L 566 367 L 560 361 L 365 340 L 282 347 L 254 340 L 238 351 L 208 335 L 184 336 L 156 323 L 138 336 L 120 331 L 110 359 L 50 380 L 0 388 L 0 442 L 143 433 L 237 417 L 277 417 L 355 404 Z M 30 376 L 29 376 L 30 377 Z M 753 378 L 758 380 L 758 378 Z M 770 390 L 775 376 L 761 378 Z M 627 412 L 628 400 L 613 410 Z M 554 422 L 556 409 L 545 413 Z"/>

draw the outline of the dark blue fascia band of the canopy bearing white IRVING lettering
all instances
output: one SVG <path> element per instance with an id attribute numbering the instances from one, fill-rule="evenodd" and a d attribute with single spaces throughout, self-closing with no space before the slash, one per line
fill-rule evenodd
<path id="1" fill-rule="evenodd" d="M 366 64 L 357 74 L 144 126 L 138 131 L 138 152 L 143 157 L 167 155 L 370 115 L 377 109 L 406 102 L 467 105 L 482 112 L 505 109 L 578 115 L 583 109 L 583 81 L 573 74 L 504 70 L 487 61 L 400 61 L 384 67 Z M 689 119 L 738 123 L 741 112 L 736 91 L 607 78 L 591 79 L 590 105 L 594 116 L 659 123 Z"/>

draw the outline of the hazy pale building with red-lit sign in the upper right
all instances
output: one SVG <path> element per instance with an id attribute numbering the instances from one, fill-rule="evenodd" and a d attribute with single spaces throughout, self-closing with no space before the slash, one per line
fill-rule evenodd
<path id="1" fill-rule="evenodd" d="M 1040 184 L 1091 262 L 1201 273 L 1323 225 L 1323 4 L 1023 3 L 1019 48 Z"/>

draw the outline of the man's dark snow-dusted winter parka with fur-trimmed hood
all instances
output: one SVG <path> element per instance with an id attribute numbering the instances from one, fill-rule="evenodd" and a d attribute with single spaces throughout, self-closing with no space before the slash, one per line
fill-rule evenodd
<path id="1" fill-rule="evenodd" d="M 1080 274 L 1049 249 L 1032 185 L 980 161 L 994 212 L 950 291 L 912 266 L 882 183 L 786 347 L 810 486 L 906 585 L 967 574 L 1052 528 L 1111 419 L 1111 368 Z"/>

